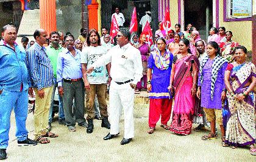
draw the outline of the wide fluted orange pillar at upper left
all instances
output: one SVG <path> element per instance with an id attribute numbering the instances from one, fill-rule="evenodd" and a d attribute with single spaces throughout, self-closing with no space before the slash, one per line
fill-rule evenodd
<path id="1" fill-rule="evenodd" d="M 57 30 L 55 0 L 39 0 L 40 28 L 51 33 Z"/>

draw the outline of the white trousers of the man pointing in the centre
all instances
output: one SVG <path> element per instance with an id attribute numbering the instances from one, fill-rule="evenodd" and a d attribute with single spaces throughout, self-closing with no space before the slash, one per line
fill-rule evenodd
<path id="1" fill-rule="evenodd" d="M 119 120 L 124 108 L 124 138 L 134 137 L 133 122 L 134 89 L 130 83 L 118 85 L 112 80 L 109 89 L 108 119 L 110 121 L 110 135 L 119 133 Z"/>

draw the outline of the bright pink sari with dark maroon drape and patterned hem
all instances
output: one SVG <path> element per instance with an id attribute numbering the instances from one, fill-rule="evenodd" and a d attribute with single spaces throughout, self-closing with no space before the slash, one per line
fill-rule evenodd
<path id="1" fill-rule="evenodd" d="M 189 135 L 193 123 L 195 98 L 191 95 L 193 77 L 189 76 L 193 60 L 198 71 L 199 60 L 195 55 L 179 58 L 175 63 L 175 99 L 170 130 L 180 135 Z"/>

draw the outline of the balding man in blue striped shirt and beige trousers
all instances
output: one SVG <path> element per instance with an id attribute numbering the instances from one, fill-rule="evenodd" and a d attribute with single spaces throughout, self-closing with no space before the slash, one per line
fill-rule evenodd
<path id="1" fill-rule="evenodd" d="M 35 140 L 38 143 L 49 143 L 45 137 L 55 138 L 58 135 L 48 130 L 49 108 L 53 88 L 53 69 L 51 60 L 46 54 L 43 44 L 46 43 L 47 33 L 43 29 L 34 32 L 35 44 L 27 50 L 29 72 L 35 91 Z"/>

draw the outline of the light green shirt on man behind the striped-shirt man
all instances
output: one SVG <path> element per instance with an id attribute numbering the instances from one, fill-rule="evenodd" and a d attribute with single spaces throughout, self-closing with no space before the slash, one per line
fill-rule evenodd
<path id="1" fill-rule="evenodd" d="M 46 47 L 46 54 L 48 55 L 48 57 L 51 60 L 52 63 L 52 68 L 54 70 L 54 77 L 57 77 L 56 71 L 57 71 L 57 61 L 58 61 L 58 55 L 60 52 L 63 51 L 62 46 L 59 46 L 58 49 L 55 49 L 52 47 L 52 45 L 50 44 L 48 47 Z"/>

